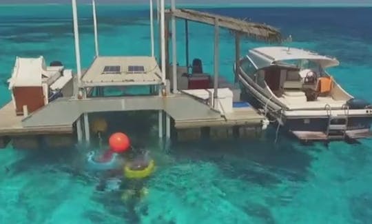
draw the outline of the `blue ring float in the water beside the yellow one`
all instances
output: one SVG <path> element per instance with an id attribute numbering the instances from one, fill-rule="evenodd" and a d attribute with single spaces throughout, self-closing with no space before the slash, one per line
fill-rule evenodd
<path id="1" fill-rule="evenodd" d="M 123 165 L 123 160 L 120 159 L 116 153 L 112 154 L 111 159 L 107 161 L 96 161 L 94 159 L 95 155 L 96 152 L 94 151 L 87 154 L 87 164 L 91 170 L 114 170 Z"/>

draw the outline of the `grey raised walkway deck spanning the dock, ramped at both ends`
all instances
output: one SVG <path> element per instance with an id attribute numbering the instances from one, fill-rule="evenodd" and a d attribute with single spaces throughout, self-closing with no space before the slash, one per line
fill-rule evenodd
<path id="1" fill-rule="evenodd" d="M 125 96 L 116 98 L 60 98 L 28 117 L 16 116 L 12 101 L 0 109 L 0 136 L 72 133 L 74 122 L 83 113 L 164 110 L 174 119 L 174 127 L 261 125 L 264 116 L 251 107 L 234 108 L 225 115 L 187 94 L 169 96 Z"/>

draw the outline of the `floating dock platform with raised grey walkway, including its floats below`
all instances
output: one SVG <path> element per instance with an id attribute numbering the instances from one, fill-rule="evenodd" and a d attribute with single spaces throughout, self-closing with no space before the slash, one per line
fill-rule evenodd
<path id="1" fill-rule="evenodd" d="M 211 139 L 220 139 L 222 136 L 229 138 L 236 132 L 246 132 L 247 128 L 253 128 L 251 130 L 256 132 L 255 130 L 262 129 L 262 121 L 265 119 L 247 103 L 234 103 L 231 112 L 220 114 L 183 93 L 168 96 L 59 98 L 25 118 L 16 116 L 11 101 L 0 109 L 0 116 L 7 118 L 0 121 L 0 146 L 3 147 L 13 139 L 14 145 L 20 148 L 38 147 L 41 142 L 61 147 L 61 142 L 72 144 L 74 123 L 82 114 L 134 110 L 163 110 L 172 119 L 180 141 L 202 138 L 205 128 Z M 236 128 L 238 130 L 234 131 Z"/>

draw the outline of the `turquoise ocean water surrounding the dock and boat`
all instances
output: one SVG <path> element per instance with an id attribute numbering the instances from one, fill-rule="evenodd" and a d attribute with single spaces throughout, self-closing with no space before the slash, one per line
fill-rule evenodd
<path id="1" fill-rule="evenodd" d="M 330 72 L 351 94 L 372 101 L 372 8 L 203 10 L 271 24 L 292 35 L 286 45 L 337 57 L 341 65 Z M 101 54 L 150 54 L 148 14 L 139 6 L 99 6 Z M 90 7 L 81 6 L 79 17 L 87 67 L 94 57 Z M 184 25 L 177 27 L 178 63 L 184 64 Z M 200 57 L 212 72 L 213 28 L 191 23 L 189 30 L 190 59 Z M 220 41 L 220 70 L 233 80 L 234 40 L 223 31 Z M 260 45 L 247 40 L 242 52 Z M 10 100 L 5 81 L 15 57 L 39 55 L 75 68 L 70 6 L 1 6 L 0 105 Z M 1 150 L 0 223 L 372 223 L 370 140 L 325 147 L 280 135 L 273 143 L 270 129 L 262 139 L 163 150 L 154 132 L 140 132 L 132 137 L 152 150 L 158 167 L 147 196 L 130 206 L 116 192 L 96 191 L 76 148 Z"/>

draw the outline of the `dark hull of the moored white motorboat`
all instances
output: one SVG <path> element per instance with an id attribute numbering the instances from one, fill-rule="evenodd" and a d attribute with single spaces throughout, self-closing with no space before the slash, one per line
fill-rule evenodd
<path id="1" fill-rule="evenodd" d="M 248 83 L 248 82 L 247 82 Z M 340 116 L 340 119 L 346 119 L 346 129 L 338 131 L 329 131 L 329 116 L 316 115 L 312 112 L 309 114 L 301 113 L 295 116 L 286 115 L 285 110 L 278 111 L 277 108 L 272 108 L 267 103 L 269 98 L 264 96 L 262 92 L 251 91 L 253 86 L 241 85 L 242 87 L 242 99 L 248 101 L 256 109 L 262 110 L 271 121 L 280 121 L 280 129 L 285 130 L 289 133 L 295 134 L 298 139 L 301 140 L 343 140 L 343 139 L 361 139 L 371 137 L 371 124 L 372 114 L 355 114 L 349 116 Z M 271 104 L 275 103 L 270 101 Z M 322 112 L 322 110 L 318 110 Z M 353 111 L 349 110 L 351 114 Z M 360 111 L 360 110 L 358 110 Z M 325 112 L 325 110 L 323 110 Z M 344 111 L 342 111 L 344 114 Z M 329 133 L 329 134 L 327 134 Z M 355 134 L 357 133 L 357 134 Z"/>

